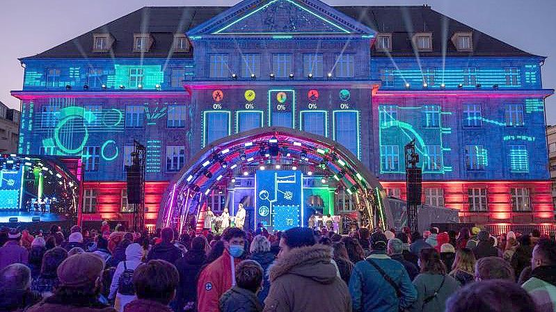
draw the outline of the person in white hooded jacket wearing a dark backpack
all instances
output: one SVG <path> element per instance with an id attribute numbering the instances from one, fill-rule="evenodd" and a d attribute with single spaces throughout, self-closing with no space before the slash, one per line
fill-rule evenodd
<path id="1" fill-rule="evenodd" d="M 118 312 L 123 311 L 124 306 L 135 299 L 135 294 L 128 291 L 128 293 L 120 293 L 122 289 L 119 287 L 124 281 L 120 281 L 122 273 L 126 270 L 134 271 L 136 268 L 143 263 L 143 247 L 141 245 L 134 243 L 129 244 L 125 249 L 125 261 L 118 263 L 116 271 L 112 277 L 112 284 L 110 285 L 110 294 L 108 299 L 116 299 L 114 301 L 114 309 Z M 130 272 L 128 272 L 129 274 Z M 131 274 L 133 274 L 131 272 Z M 122 285 L 123 288 L 125 286 Z"/>

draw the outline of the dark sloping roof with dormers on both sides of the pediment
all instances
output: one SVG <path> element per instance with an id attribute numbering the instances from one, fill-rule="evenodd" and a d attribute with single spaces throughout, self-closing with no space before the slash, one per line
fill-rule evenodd
<path id="1" fill-rule="evenodd" d="M 120 17 L 108 24 L 89 31 L 84 35 L 64 42 L 52 49 L 30 56 L 33 58 L 109 58 L 111 53 L 93 52 L 93 33 L 111 33 L 116 42 L 113 44 L 113 57 L 136 58 L 141 53 L 133 51 L 134 33 L 151 33 L 154 44 L 143 58 L 166 58 L 173 42 L 173 33 L 185 33 L 202 22 L 222 13 L 226 6 L 174 6 L 145 7 Z M 512 47 L 470 26 L 462 24 L 429 6 L 335 6 L 340 12 L 370 26 L 379 33 L 392 33 L 392 56 L 414 56 L 411 35 L 422 31 L 433 33 L 433 51 L 421 52 L 421 56 L 443 56 L 441 36 L 447 33 L 446 56 L 534 56 Z M 407 27 L 404 21 L 411 21 Z M 446 21 L 446 22 L 444 22 Z M 443 24 L 448 29 L 443 31 Z M 142 30 L 141 26 L 148 26 Z M 472 52 L 458 52 L 450 38 L 457 31 L 473 34 Z M 386 56 L 383 52 L 373 51 L 374 56 Z M 174 53 L 172 57 L 191 57 L 191 52 Z"/>

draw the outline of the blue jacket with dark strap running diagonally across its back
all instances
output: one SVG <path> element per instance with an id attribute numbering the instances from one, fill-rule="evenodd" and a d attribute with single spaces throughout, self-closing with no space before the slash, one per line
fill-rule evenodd
<path id="1" fill-rule="evenodd" d="M 404 265 L 385 254 L 371 254 L 367 258 L 371 258 L 395 281 L 402 297 L 397 297 L 396 290 L 374 266 L 366 260 L 359 261 L 349 279 L 349 293 L 354 312 L 398 312 L 400 307 L 411 306 L 417 299 L 417 290 L 411 284 Z"/>

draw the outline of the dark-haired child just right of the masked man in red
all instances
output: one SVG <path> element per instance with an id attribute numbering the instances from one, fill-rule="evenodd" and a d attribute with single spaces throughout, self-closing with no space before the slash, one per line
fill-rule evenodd
<path id="1" fill-rule="evenodd" d="M 262 267 L 257 261 L 241 261 L 235 269 L 236 286 L 220 297 L 221 312 L 262 312 L 257 291 L 262 285 Z"/>

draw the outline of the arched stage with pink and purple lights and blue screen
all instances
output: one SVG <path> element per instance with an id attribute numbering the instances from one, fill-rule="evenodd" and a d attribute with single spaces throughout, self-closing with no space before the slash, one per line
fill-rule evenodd
<path id="1" fill-rule="evenodd" d="M 262 222 L 271 229 L 305 226 L 312 213 L 305 199 L 316 190 L 328 207 L 333 206 L 332 197 L 349 197 L 351 216 L 360 226 L 391 225 L 379 181 L 329 138 L 283 127 L 253 129 L 216 140 L 192 159 L 170 182 L 157 227 L 175 227 L 181 233 L 185 224 L 195 222 L 198 229 L 207 199 L 213 200 L 215 192 L 227 194 L 230 215 L 239 202 L 249 207 L 249 224 Z M 253 229 L 247 221 L 246 227 Z"/>

